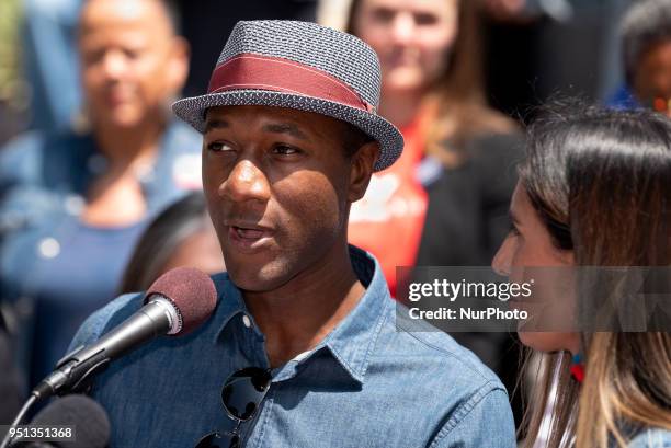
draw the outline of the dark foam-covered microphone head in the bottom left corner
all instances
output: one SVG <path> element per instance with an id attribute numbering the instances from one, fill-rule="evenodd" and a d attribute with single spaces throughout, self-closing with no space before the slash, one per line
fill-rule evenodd
<path id="1" fill-rule="evenodd" d="M 31 426 L 49 428 L 69 426 L 71 440 L 29 441 L 15 439 L 12 448 L 105 448 L 110 441 L 110 420 L 103 407 L 86 395 L 67 395 L 54 400 L 31 422 Z"/>

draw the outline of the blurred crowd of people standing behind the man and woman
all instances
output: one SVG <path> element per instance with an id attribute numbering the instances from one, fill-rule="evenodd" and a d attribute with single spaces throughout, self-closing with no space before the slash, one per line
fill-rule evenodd
<path id="1" fill-rule="evenodd" d="M 393 295 L 396 266 L 490 264 L 535 106 L 671 110 L 671 0 L 2 0 L 0 422 L 92 311 L 171 267 L 225 269 L 201 138 L 169 106 L 206 91 L 252 19 L 317 21 L 377 53 L 378 113 L 406 143 L 349 236 Z M 513 336 L 454 336 L 514 388 Z"/>

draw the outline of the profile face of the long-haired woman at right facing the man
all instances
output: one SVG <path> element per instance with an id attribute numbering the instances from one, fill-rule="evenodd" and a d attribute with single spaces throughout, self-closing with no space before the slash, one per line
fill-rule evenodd
<path id="1" fill-rule="evenodd" d="M 493 269 L 509 277 L 510 282 L 524 283 L 535 278 L 532 288 L 534 295 L 542 296 L 535 303 L 558 305 L 559 312 L 550 310 L 554 318 L 561 317 L 564 310 L 569 310 L 571 302 L 571 285 L 567 285 L 566 273 L 572 272 L 573 253 L 557 249 L 545 223 L 534 209 L 524 186 L 518 183 L 510 206 L 512 229 L 492 260 Z M 566 269 L 564 269 L 566 267 Z M 521 308 L 525 303 L 520 305 Z M 547 311 L 546 311 L 547 312 Z M 564 314 L 565 319 L 569 319 Z M 538 324 L 542 330 L 543 323 Z M 556 352 L 568 349 L 578 353 L 580 337 L 578 333 L 519 331 L 520 341 L 526 346 L 542 351 Z"/>

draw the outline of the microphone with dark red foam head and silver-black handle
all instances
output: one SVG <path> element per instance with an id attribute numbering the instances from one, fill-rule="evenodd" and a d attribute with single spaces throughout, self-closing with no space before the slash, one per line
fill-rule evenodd
<path id="1" fill-rule="evenodd" d="M 78 389 L 107 364 L 168 334 L 180 336 L 202 324 L 215 309 L 217 292 L 212 279 L 192 267 L 163 274 L 145 295 L 145 306 L 87 347 L 66 355 L 56 370 L 33 390 L 36 400 Z"/>

